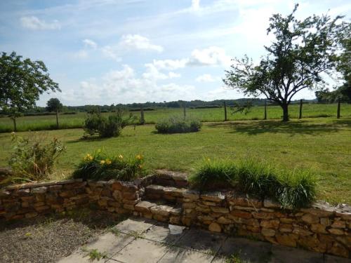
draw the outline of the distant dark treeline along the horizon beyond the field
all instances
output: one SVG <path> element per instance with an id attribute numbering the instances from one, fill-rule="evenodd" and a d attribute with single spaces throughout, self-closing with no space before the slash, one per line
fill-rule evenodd
<path id="1" fill-rule="evenodd" d="M 211 109 L 211 108 L 219 108 L 223 107 L 223 103 L 227 105 L 227 107 L 231 107 L 234 104 L 244 104 L 247 101 L 251 101 L 253 106 L 262 106 L 265 104 L 265 99 L 247 99 L 241 98 L 237 100 L 212 100 L 212 101 L 204 101 L 204 100 L 191 100 L 191 101 L 172 101 L 172 102 L 145 102 L 145 103 L 130 103 L 130 104 L 111 104 L 111 105 L 84 105 L 84 106 L 63 106 L 60 114 L 76 114 L 77 112 L 114 112 L 117 108 L 124 108 L 130 112 L 138 112 L 140 111 L 140 107 L 143 107 L 144 111 L 152 111 L 155 109 L 161 108 L 183 108 L 187 107 L 190 109 Z M 304 100 L 305 102 L 317 102 L 317 100 Z M 298 103 L 298 100 L 291 102 Z M 268 102 L 268 105 L 274 105 L 272 102 Z M 0 116 L 5 116 L 6 112 L 0 112 Z M 34 107 L 33 109 L 28 110 L 23 113 L 25 116 L 38 116 L 38 115 L 55 115 L 55 112 L 47 112 L 46 107 Z"/>

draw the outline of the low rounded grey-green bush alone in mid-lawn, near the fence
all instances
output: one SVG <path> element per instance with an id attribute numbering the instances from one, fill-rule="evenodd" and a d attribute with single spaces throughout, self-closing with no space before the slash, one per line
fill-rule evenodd
<path id="1" fill-rule="evenodd" d="M 192 118 L 172 116 L 156 123 L 158 133 L 194 133 L 200 130 L 201 121 Z"/>

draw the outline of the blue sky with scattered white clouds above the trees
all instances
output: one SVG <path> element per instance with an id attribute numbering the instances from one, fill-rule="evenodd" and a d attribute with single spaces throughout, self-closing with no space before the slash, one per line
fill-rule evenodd
<path id="1" fill-rule="evenodd" d="M 297 1 L 296 16 L 345 15 L 348 0 Z M 4 0 L 0 51 L 42 60 L 65 105 L 220 100 L 244 97 L 222 79 L 232 58 L 258 62 L 282 0 Z M 296 99 L 314 98 L 310 90 Z"/>

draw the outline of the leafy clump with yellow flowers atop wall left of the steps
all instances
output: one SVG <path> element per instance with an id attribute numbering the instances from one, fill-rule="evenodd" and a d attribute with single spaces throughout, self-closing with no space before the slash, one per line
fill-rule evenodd
<path id="1" fill-rule="evenodd" d="M 101 151 L 86 154 L 84 160 L 74 170 L 72 177 L 84 180 L 124 180 L 129 181 L 143 175 L 143 156 L 108 156 Z"/>

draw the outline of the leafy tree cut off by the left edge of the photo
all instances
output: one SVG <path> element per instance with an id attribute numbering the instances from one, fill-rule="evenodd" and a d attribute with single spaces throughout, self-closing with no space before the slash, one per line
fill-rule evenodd
<path id="1" fill-rule="evenodd" d="M 25 60 L 15 52 L 2 53 L 0 58 L 0 109 L 8 112 L 16 131 L 16 118 L 21 112 L 34 107 L 39 95 L 56 90 L 44 62 Z"/>

